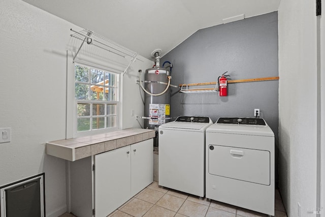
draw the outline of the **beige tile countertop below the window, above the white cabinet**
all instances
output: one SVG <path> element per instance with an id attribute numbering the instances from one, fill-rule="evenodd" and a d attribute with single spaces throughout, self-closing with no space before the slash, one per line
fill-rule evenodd
<path id="1" fill-rule="evenodd" d="M 77 161 L 154 137 L 154 130 L 128 128 L 105 134 L 47 142 L 46 153 L 68 161 Z"/>

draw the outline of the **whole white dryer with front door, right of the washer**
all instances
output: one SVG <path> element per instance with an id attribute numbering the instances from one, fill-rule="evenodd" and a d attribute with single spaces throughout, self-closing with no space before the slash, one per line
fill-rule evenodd
<path id="1" fill-rule="evenodd" d="M 274 215 L 274 133 L 262 118 L 219 118 L 206 131 L 206 197 Z"/>

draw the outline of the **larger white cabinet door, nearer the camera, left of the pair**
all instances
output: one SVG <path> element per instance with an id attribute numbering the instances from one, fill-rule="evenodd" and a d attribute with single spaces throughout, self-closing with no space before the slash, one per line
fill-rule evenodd
<path id="1" fill-rule="evenodd" d="M 107 216 L 131 198 L 130 146 L 95 155 L 95 216 Z"/>

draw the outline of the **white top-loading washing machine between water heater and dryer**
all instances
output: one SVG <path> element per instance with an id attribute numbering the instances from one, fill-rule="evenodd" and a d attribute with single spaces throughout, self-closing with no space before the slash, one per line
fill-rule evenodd
<path id="1" fill-rule="evenodd" d="M 158 184 L 205 195 L 205 131 L 209 117 L 180 116 L 159 126 Z"/>

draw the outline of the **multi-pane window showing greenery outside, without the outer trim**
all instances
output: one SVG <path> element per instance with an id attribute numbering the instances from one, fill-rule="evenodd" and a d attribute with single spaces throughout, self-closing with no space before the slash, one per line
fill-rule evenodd
<path id="1" fill-rule="evenodd" d="M 75 65 L 77 133 L 118 127 L 119 74 Z"/>

